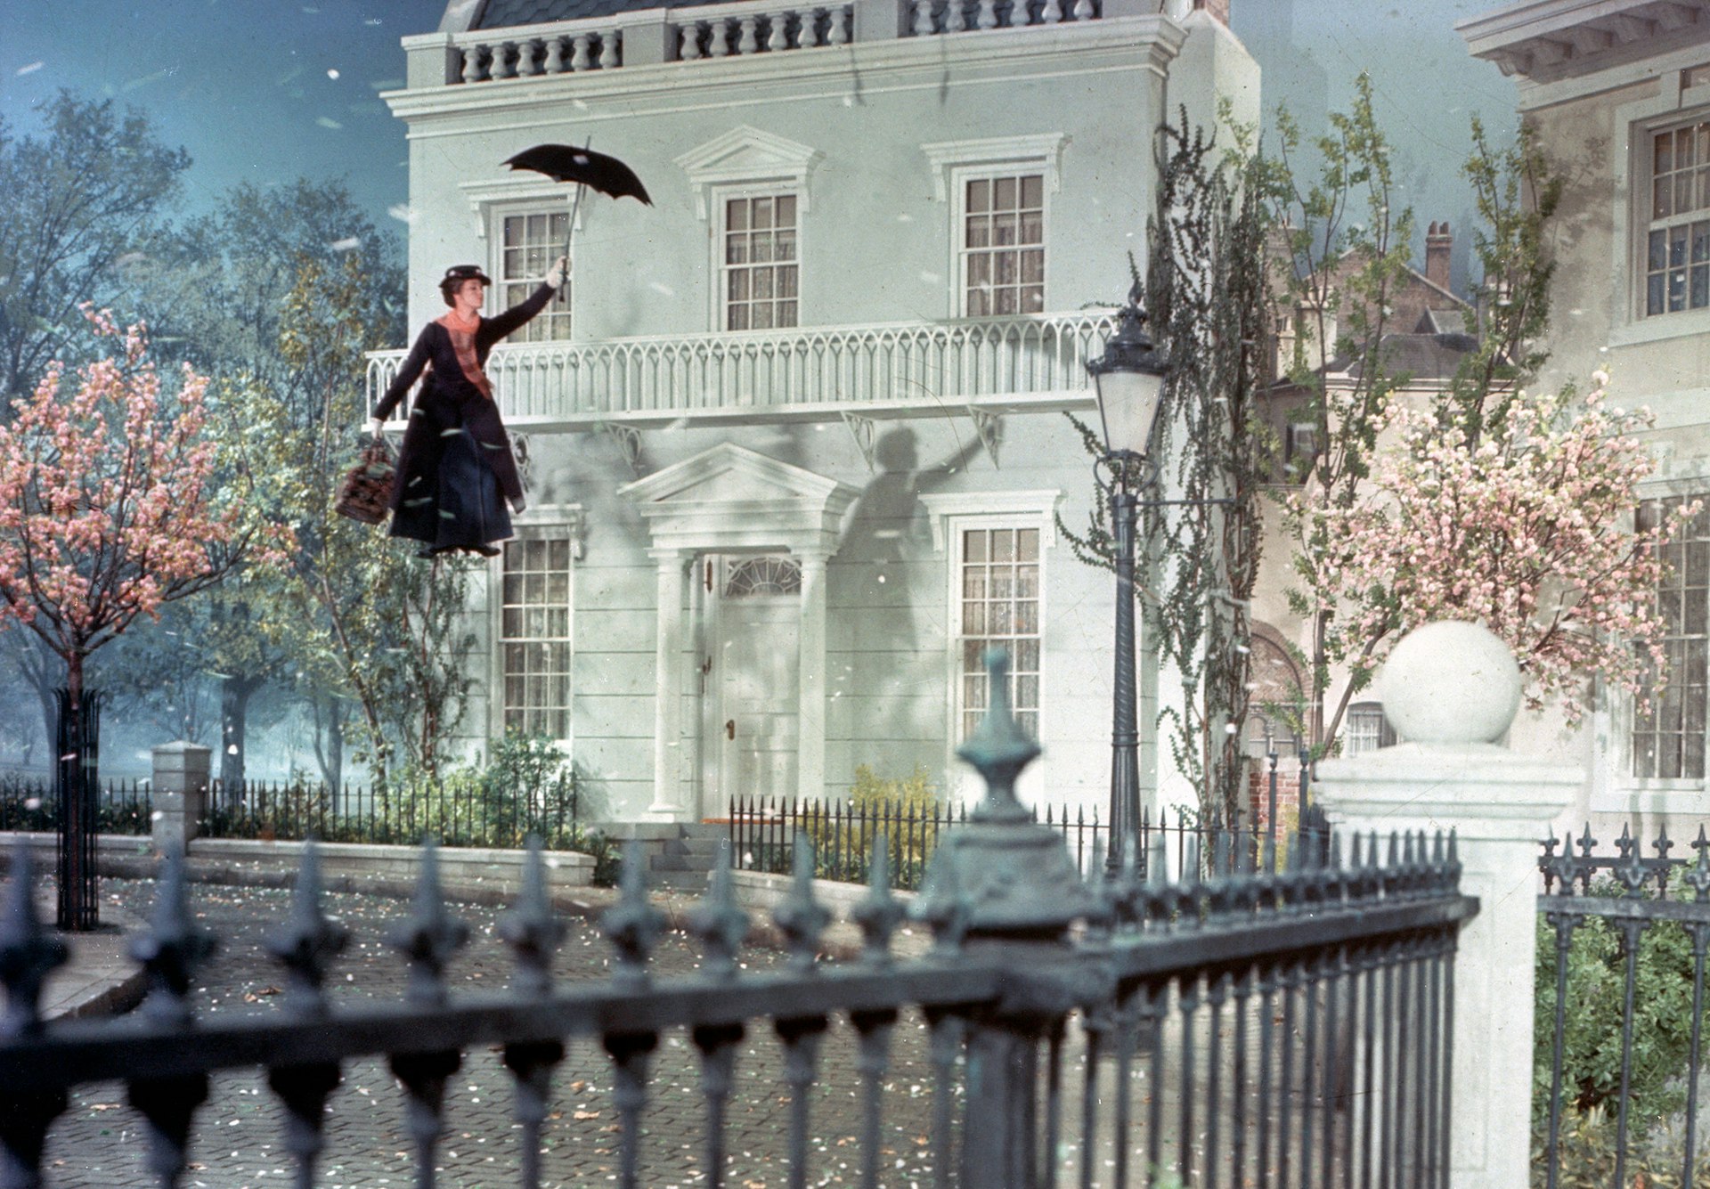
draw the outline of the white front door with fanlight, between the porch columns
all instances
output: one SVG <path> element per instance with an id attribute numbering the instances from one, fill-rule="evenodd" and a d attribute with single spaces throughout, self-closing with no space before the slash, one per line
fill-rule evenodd
<path id="1" fill-rule="evenodd" d="M 718 582 L 711 672 L 718 691 L 718 797 L 795 796 L 802 570 L 787 554 L 713 559 Z"/>

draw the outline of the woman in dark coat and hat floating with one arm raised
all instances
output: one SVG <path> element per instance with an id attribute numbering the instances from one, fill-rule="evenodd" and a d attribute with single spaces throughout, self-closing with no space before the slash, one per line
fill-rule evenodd
<path id="1" fill-rule="evenodd" d="M 494 542 L 511 535 L 504 501 L 522 512 L 523 482 L 482 368 L 494 342 L 545 308 L 564 286 L 564 274 L 566 260 L 559 257 L 527 301 L 482 318 L 481 306 L 492 282 L 479 265 L 446 269 L 439 294 L 451 308 L 422 327 L 397 380 L 374 405 L 368 428 L 380 435 L 385 419 L 426 371 L 404 429 L 398 477 L 392 488 L 392 535 L 421 541 L 419 556 L 462 551 L 492 558 L 499 553 Z"/>

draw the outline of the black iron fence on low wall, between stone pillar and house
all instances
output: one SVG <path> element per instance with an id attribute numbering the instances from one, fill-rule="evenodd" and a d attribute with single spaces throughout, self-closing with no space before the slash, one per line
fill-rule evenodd
<path id="1" fill-rule="evenodd" d="M 549 849 L 583 840 L 581 797 L 573 772 L 518 790 L 484 777 L 385 785 L 215 780 L 200 831 L 212 838 L 416 843 L 434 835 L 446 847 L 520 847 L 535 835 Z"/>

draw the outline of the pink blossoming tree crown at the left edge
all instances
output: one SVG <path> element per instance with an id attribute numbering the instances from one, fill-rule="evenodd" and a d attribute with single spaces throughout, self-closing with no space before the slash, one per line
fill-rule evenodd
<path id="1" fill-rule="evenodd" d="M 75 712 L 84 667 L 139 616 L 219 582 L 251 539 L 210 484 L 207 378 L 169 390 L 145 327 L 84 306 L 92 363 L 50 363 L 0 426 L 0 619 L 65 662 Z"/>

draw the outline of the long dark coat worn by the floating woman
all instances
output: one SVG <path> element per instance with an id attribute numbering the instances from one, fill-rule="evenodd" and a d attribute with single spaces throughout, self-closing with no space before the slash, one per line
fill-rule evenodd
<path id="1" fill-rule="evenodd" d="M 552 299 L 552 286 L 535 289 L 522 301 L 492 318 L 477 318 L 474 354 L 477 368 L 487 363 L 487 352 L 504 335 L 534 318 Z M 498 491 L 511 505 L 522 506 L 523 484 L 516 474 L 499 405 L 477 387 L 458 361 L 451 332 L 439 322 L 429 322 L 416 337 L 397 378 L 374 405 L 376 417 L 388 417 L 417 376 L 428 370 L 422 388 L 410 409 L 410 423 L 404 429 L 398 448 L 398 479 L 392 489 L 392 535 L 428 541 L 429 544 L 487 544 L 510 535 L 510 517 L 496 500 L 486 500 L 479 482 L 487 476 L 467 464 L 462 455 L 472 450 L 486 472 L 498 481 Z M 467 431 L 467 436 L 462 433 Z M 460 440 L 460 441 L 458 441 Z M 446 452 L 453 457 L 448 460 Z M 450 465 L 445 465 L 448 464 Z M 477 489 L 469 489 L 470 484 Z M 498 493 L 492 493 L 498 494 Z M 474 520 L 470 520 L 470 512 Z M 486 515 L 481 515 L 486 510 Z M 496 524 L 499 522 L 499 524 Z M 503 525 L 503 530 L 499 529 Z M 470 537 L 470 539 L 465 539 Z"/>

